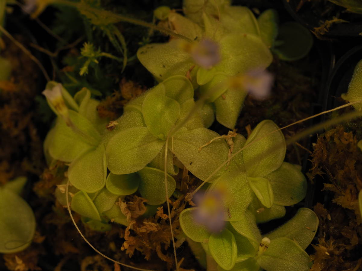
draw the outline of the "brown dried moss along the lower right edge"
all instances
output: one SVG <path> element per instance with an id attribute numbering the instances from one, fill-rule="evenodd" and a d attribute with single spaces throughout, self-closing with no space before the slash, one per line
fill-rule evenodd
<path id="1" fill-rule="evenodd" d="M 319 218 L 319 244 L 312 255 L 313 271 L 356 271 L 362 268 L 362 152 L 353 132 L 338 125 L 321 135 L 314 147 L 309 177 L 327 174 L 324 190 L 332 197 L 314 207 Z M 326 178 L 327 179 L 327 178 Z"/>

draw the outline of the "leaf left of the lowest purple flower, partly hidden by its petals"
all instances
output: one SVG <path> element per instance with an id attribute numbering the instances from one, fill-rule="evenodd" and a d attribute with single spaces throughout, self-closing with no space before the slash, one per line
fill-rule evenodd
<path id="1" fill-rule="evenodd" d="M 195 222 L 194 216 L 196 215 L 196 208 L 188 208 L 180 214 L 180 225 L 182 231 L 187 237 L 195 242 L 205 242 L 209 239 L 211 233 L 207 231 L 204 225 L 200 225 Z"/>

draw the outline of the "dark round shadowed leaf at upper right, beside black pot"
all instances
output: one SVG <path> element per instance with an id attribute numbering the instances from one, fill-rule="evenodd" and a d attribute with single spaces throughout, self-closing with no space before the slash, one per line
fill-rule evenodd
<path id="1" fill-rule="evenodd" d="M 308 55 L 313 46 L 313 36 L 309 29 L 297 22 L 283 23 L 279 28 L 277 40 L 282 43 L 273 48 L 279 59 L 295 61 Z"/>

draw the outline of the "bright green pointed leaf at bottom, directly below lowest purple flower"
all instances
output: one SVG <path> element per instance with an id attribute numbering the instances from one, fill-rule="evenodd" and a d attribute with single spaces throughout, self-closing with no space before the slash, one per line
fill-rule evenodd
<path id="1" fill-rule="evenodd" d="M 209 251 L 220 267 L 230 270 L 237 257 L 237 246 L 234 235 L 228 229 L 220 233 L 212 233 L 209 238 Z"/>

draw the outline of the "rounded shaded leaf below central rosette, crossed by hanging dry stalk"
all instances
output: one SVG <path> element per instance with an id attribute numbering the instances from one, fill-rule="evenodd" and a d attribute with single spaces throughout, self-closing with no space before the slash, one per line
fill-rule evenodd
<path id="1" fill-rule="evenodd" d="M 149 205 L 159 205 L 166 201 L 164 172 L 157 168 L 145 167 L 137 173 L 140 178 L 138 187 L 141 196 L 147 199 Z M 168 197 L 171 197 L 176 188 L 176 181 L 167 174 Z"/>

